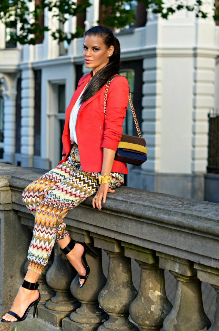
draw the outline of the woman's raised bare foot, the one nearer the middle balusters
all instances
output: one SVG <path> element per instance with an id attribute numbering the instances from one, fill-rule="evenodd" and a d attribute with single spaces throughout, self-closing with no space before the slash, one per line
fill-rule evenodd
<path id="1" fill-rule="evenodd" d="M 84 252 L 84 247 L 81 244 L 76 243 L 74 248 L 66 254 L 67 259 L 71 265 L 75 268 L 79 275 L 85 276 L 86 270 L 81 262 L 81 257 Z M 84 283 L 84 279 L 80 279 L 80 284 Z"/>

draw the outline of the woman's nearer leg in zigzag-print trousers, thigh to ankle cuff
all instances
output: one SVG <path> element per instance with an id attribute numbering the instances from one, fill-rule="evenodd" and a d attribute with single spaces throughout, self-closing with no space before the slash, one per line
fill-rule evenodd
<path id="1" fill-rule="evenodd" d="M 98 187 L 98 174 L 87 173 L 80 169 L 51 191 L 39 204 L 28 250 L 28 269 L 41 273 L 49 259 L 55 240 L 60 241 L 60 238 L 57 238 L 57 231 L 63 218 L 69 210 L 94 194 Z M 65 241 L 64 239 L 61 238 L 60 244 L 65 243 L 67 246 L 67 239 Z M 73 266 L 78 271 L 77 266 Z"/>

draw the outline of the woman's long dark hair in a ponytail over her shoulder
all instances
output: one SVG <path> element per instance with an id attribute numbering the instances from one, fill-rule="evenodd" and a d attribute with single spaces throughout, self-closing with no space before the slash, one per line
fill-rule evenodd
<path id="1" fill-rule="evenodd" d="M 109 58 L 109 63 L 97 71 L 90 81 L 88 87 L 81 96 L 81 103 L 89 100 L 102 86 L 108 81 L 110 77 L 118 73 L 120 70 L 120 44 L 116 37 L 114 37 L 111 30 L 105 26 L 95 26 L 84 32 L 84 37 L 95 36 L 101 38 L 107 48 L 114 46 L 113 54 Z"/>

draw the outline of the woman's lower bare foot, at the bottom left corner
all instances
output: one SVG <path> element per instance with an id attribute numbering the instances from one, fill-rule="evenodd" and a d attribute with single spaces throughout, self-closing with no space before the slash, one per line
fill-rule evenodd
<path id="1" fill-rule="evenodd" d="M 32 291 L 32 290 L 27 290 L 24 287 L 20 287 L 10 310 L 18 314 L 20 317 L 22 317 L 27 307 L 38 298 L 39 298 L 38 290 Z M 11 322 L 17 321 L 16 317 L 8 313 L 6 313 L 2 317 L 2 319 Z"/>

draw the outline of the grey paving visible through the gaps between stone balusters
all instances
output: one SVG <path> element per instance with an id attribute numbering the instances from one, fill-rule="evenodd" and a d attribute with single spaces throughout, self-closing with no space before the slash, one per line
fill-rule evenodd
<path id="1" fill-rule="evenodd" d="M 105 276 L 107 277 L 108 273 L 108 257 L 107 254 L 102 250 L 102 257 L 103 257 L 103 271 Z M 139 282 L 140 282 L 140 267 L 135 260 L 132 259 L 132 280 L 135 288 L 139 289 Z M 165 288 L 166 288 L 166 295 L 169 301 L 173 304 L 175 292 L 176 292 L 176 279 L 174 276 L 168 271 L 165 270 Z M 202 282 L 202 299 L 203 299 L 203 306 L 204 311 L 208 318 L 210 319 L 211 323 L 214 318 L 214 310 L 215 310 L 215 303 L 216 303 L 216 291 L 210 284 Z"/>

